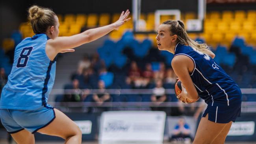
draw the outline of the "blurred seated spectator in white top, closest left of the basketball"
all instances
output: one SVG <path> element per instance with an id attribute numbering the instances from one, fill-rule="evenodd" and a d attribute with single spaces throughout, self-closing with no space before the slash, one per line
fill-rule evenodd
<path id="1" fill-rule="evenodd" d="M 151 96 L 151 101 L 154 105 L 158 106 L 166 101 L 165 89 L 163 88 L 162 80 L 158 79 L 156 81 L 156 87 L 152 90 L 153 94 Z M 164 111 L 165 108 L 153 107 L 152 110 Z"/>

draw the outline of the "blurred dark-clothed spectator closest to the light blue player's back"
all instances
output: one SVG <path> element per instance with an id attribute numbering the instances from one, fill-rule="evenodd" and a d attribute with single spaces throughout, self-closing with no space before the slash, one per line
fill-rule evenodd
<path id="1" fill-rule="evenodd" d="M 72 89 L 66 90 L 64 95 L 64 102 L 83 102 L 89 95 L 88 90 L 81 90 L 78 79 L 72 82 Z"/>

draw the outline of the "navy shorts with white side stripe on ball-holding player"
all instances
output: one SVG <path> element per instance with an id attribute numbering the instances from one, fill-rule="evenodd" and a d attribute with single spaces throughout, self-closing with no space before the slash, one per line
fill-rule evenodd
<path id="1" fill-rule="evenodd" d="M 229 106 L 208 105 L 202 117 L 208 114 L 208 120 L 215 123 L 227 124 L 230 121 L 235 122 L 237 116 L 241 113 L 241 103 L 230 104 Z"/>

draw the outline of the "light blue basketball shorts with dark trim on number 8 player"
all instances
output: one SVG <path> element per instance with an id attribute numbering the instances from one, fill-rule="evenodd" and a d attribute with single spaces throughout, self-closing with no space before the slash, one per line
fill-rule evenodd
<path id="1" fill-rule="evenodd" d="M 44 106 L 33 110 L 0 109 L 0 118 L 8 133 L 23 129 L 35 133 L 55 119 L 55 112 L 53 107 Z"/>

